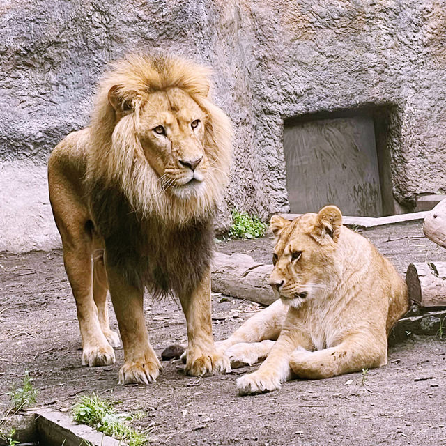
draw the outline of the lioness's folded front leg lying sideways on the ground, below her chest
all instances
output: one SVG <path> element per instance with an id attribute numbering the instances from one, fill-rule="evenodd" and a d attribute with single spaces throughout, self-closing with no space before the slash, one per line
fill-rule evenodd
<path id="1" fill-rule="evenodd" d="M 387 339 L 371 334 L 352 334 L 338 346 L 318 351 L 296 350 L 290 356 L 293 372 L 307 379 L 330 378 L 386 363 Z"/>

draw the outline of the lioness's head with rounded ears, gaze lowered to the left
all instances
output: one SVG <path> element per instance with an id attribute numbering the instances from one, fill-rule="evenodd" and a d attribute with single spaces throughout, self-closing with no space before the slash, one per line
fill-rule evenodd
<path id="1" fill-rule="evenodd" d="M 335 206 L 293 222 L 272 217 L 271 229 L 277 239 L 270 286 L 277 298 L 298 307 L 305 300 L 325 295 L 337 277 L 339 259 L 335 252 L 341 222 L 341 211 Z"/>

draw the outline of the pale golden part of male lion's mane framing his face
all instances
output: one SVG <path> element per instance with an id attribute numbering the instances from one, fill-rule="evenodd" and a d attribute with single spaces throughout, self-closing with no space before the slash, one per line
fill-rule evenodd
<path id="1" fill-rule="evenodd" d="M 209 70 L 170 56 L 131 55 L 114 63 L 102 78 L 91 116 L 91 139 L 86 179 L 101 178 L 116 185 L 142 218 L 156 215 L 171 227 L 202 220 L 215 208 L 226 185 L 231 160 L 231 123 L 208 98 Z M 112 86 L 134 112 L 115 125 L 114 109 L 107 98 Z M 206 188 L 186 201 L 168 194 L 144 157 L 135 127 L 141 95 L 178 87 L 188 93 L 207 115 L 204 149 L 212 174 Z"/>

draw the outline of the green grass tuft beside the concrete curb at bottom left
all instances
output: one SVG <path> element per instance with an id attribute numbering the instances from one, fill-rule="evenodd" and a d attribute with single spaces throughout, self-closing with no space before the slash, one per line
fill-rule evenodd
<path id="1" fill-rule="evenodd" d="M 129 446 L 148 445 L 148 431 L 139 432 L 129 426 L 129 422 L 141 417 L 140 413 L 116 413 L 112 403 L 96 394 L 83 395 L 72 409 L 75 422 L 91 426 L 97 431 L 125 441 Z"/>

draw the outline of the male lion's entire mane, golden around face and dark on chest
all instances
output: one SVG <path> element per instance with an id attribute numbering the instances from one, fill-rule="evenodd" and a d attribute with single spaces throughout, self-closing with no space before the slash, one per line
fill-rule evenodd
<path id="1" fill-rule="evenodd" d="M 213 214 L 228 178 L 232 135 L 229 118 L 208 98 L 208 75 L 182 59 L 132 55 L 112 66 L 95 98 L 86 169 L 95 230 L 105 240 L 108 265 L 154 296 L 196 289 L 213 256 Z M 118 123 L 108 100 L 114 86 L 131 110 Z M 136 133 L 141 98 L 171 87 L 206 114 L 206 187 L 187 199 L 164 190 Z"/>

